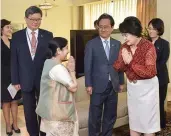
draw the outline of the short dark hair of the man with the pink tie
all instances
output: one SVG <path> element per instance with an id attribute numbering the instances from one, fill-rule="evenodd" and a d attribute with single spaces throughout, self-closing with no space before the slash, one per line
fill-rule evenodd
<path id="1" fill-rule="evenodd" d="M 35 13 L 39 13 L 42 17 L 42 10 L 37 6 L 31 6 L 25 11 L 25 17 L 28 18 L 29 15 L 33 15 Z"/>

